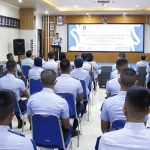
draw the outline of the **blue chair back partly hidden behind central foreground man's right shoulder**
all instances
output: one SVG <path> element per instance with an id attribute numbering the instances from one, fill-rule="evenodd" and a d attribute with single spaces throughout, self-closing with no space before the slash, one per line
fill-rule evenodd
<path id="1" fill-rule="evenodd" d="M 75 100 L 74 100 L 73 95 L 70 93 L 57 93 L 57 95 L 61 96 L 67 101 L 68 106 L 69 106 L 70 118 L 77 118 Z"/>

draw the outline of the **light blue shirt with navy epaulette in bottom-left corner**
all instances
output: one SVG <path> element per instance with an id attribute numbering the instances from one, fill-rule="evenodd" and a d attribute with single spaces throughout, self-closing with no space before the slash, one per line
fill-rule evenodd
<path id="1" fill-rule="evenodd" d="M 17 135 L 10 131 L 9 126 L 0 125 L 0 150 L 34 150 L 28 137 Z"/>

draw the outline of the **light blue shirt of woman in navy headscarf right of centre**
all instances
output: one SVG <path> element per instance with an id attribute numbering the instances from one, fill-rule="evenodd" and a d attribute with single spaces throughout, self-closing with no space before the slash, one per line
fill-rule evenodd
<path id="1" fill-rule="evenodd" d="M 73 71 L 70 72 L 70 76 L 77 80 L 84 80 L 86 84 L 86 93 L 89 94 L 88 85 L 90 82 L 89 72 L 82 68 L 74 68 Z"/>

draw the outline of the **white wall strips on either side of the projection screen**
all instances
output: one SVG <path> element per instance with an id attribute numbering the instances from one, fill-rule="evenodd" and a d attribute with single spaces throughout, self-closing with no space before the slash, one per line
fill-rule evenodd
<path id="1" fill-rule="evenodd" d="M 56 26 L 56 32 L 63 38 L 62 52 L 67 52 L 67 24 Z M 145 53 L 150 53 L 150 25 L 145 24 Z"/>

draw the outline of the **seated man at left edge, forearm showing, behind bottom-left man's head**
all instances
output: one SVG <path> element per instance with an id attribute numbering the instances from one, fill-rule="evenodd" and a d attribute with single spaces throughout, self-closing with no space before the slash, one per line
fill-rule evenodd
<path id="1" fill-rule="evenodd" d="M 9 89 L 15 91 L 17 100 L 20 106 L 21 111 L 25 111 L 26 101 L 20 99 L 20 93 L 22 92 L 23 96 L 29 98 L 30 95 L 25 88 L 24 82 L 14 76 L 14 73 L 17 69 L 17 64 L 14 60 L 10 60 L 6 63 L 7 75 L 0 78 L 0 89 Z M 16 116 L 18 119 L 18 128 L 22 128 L 22 119 L 20 116 Z"/>

